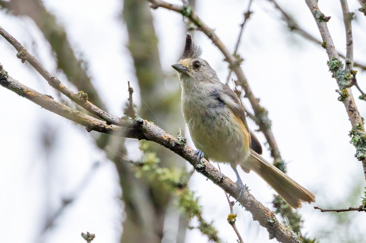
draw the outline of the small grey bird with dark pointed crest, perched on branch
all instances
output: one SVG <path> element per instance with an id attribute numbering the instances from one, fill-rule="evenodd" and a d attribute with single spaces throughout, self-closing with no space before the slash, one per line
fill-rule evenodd
<path id="1" fill-rule="evenodd" d="M 187 33 L 182 58 L 172 67 L 182 87 L 182 111 L 196 151 L 202 157 L 231 165 L 239 186 L 244 185 L 236 167 L 253 170 L 292 207 L 314 202 L 314 195 L 261 157 L 262 146 L 248 128 L 244 107 L 236 94 L 220 82 L 215 70 L 201 59 L 202 49 Z M 238 197 L 238 198 L 239 198 Z"/>

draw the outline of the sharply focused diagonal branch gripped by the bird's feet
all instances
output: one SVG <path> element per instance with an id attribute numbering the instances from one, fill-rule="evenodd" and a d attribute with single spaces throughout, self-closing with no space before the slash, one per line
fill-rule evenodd
<path id="1" fill-rule="evenodd" d="M 137 117 L 135 119 L 123 118 L 120 120 L 120 126 L 107 125 L 105 121 L 98 120 L 82 112 L 76 111 L 60 104 L 47 95 L 42 95 L 37 91 L 20 84 L 18 81 L 10 77 L 7 72 L 0 66 L 0 85 L 15 92 L 19 96 L 25 97 L 34 103 L 49 111 L 63 116 L 69 120 L 85 126 L 87 131 L 97 131 L 105 134 L 122 136 L 126 138 L 145 139 L 163 145 L 174 153 L 186 159 L 195 169 L 208 179 L 212 180 L 216 185 L 220 186 L 225 192 L 238 199 L 238 186 L 217 170 L 206 159 L 202 159 L 196 163 L 195 150 L 189 147 L 186 142 L 175 138 L 174 136 L 163 131 L 154 123 L 142 120 Z M 266 208 L 261 202 L 257 201 L 248 189 L 245 189 L 243 196 L 238 199 L 251 214 L 253 219 L 257 220 L 262 227 L 269 232 L 270 239 L 276 238 L 283 243 L 300 243 L 298 236 L 291 230 L 285 228 L 275 217 L 270 209 Z"/>

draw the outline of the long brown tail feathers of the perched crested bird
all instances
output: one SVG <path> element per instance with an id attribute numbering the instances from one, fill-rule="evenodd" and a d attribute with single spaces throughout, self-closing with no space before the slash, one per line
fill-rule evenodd
<path id="1" fill-rule="evenodd" d="M 262 177 L 292 208 L 300 208 L 302 202 L 315 202 L 313 193 L 300 186 L 253 150 L 250 151 L 248 161 L 240 166 L 244 171 L 249 167 Z"/>

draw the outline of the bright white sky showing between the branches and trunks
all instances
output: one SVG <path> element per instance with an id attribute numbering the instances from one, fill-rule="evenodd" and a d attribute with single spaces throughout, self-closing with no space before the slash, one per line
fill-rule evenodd
<path id="1" fill-rule="evenodd" d="M 180 4 L 180 1 L 169 1 Z M 68 38 L 77 53 L 89 63 L 88 72 L 100 92 L 109 112 L 122 116 L 127 101 L 127 81 L 135 88 L 135 103 L 139 103 L 138 87 L 132 59 L 125 44 L 128 41 L 126 26 L 120 21 L 122 3 L 117 0 L 100 1 L 64 0 L 44 1 L 66 28 Z M 229 50 L 233 51 L 243 21 L 248 1 L 197 0 L 197 13 L 213 28 Z M 320 39 L 313 16 L 305 1 L 284 1 L 279 4 L 294 16 L 300 26 Z M 345 50 L 343 20 L 340 3 L 320 0 L 319 7 L 326 16 L 335 47 Z M 349 1 L 350 11 L 359 8 L 358 1 Z M 336 227 L 336 218 L 330 213 L 313 209 L 358 207 L 357 201 L 347 201 L 354 190 L 365 187 L 362 165 L 354 158 L 355 148 L 349 143 L 350 122 L 339 96 L 336 81 L 326 66 L 325 49 L 289 32 L 279 20 L 280 13 L 265 0 L 254 0 L 249 22 L 244 29 L 239 53 L 244 58 L 242 68 L 261 105 L 269 111 L 272 131 L 280 148 L 288 175 L 305 186 L 316 197 L 316 202 L 303 205 L 299 213 L 304 220 L 303 233 L 316 236 L 322 243 L 366 242 L 365 213 L 348 212 L 349 224 Z M 171 68 L 180 58 L 184 46 L 185 26 L 182 16 L 166 9 L 153 12 L 159 38 L 160 59 L 164 72 L 172 75 Z M 366 64 L 366 17 L 356 11 L 353 22 L 354 59 Z M 41 32 L 28 18 L 16 18 L 0 12 L 0 26 L 18 39 L 31 54 L 68 84 L 63 74 L 56 71 L 50 56 L 50 46 Z M 222 81 L 226 80 L 227 63 L 223 55 L 202 33 L 196 32 L 195 42 L 202 46 L 203 59 L 215 69 Z M 16 51 L 0 38 L 0 62 L 9 75 L 38 92 L 60 95 L 28 64 L 16 58 Z M 357 69 L 356 69 L 357 70 Z M 365 72 L 358 72 L 359 85 L 366 90 Z M 178 80 L 176 80 L 178 84 Z M 176 85 L 176 84 L 167 84 Z M 354 96 L 359 92 L 352 89 Z M 62 100 L 66 100 L 62 97 Z M 244 104 L 248 103 L 244 100 Z M 359 111 L 366 116 L 365 101 L 356 99 Z M 147 104 L 148 105 L 148 104 Z M 177 113 L 181 111 L 177 110 Z M 123 220 L 119 197 L 121 190 L 115 166 L 94 145 L 86 130 L 71 121 L 57 116 L 31 101 L 0 87 L 0 242 L 85 242 L 80 234 L 96 234 L 93 243 L 119 242 Z M 142 117 L 143 118 L 143 117 Z M 159 117 L 158 117 L 159 118 Z M 257 127 L 251 121 L 252 130 Z M 159 125 L 164 129 L 164 121 Z M 178 131 L 178 127 L 176 129 Z M 44 153 L 42 134 L 47 134 L 56 150 Z M 264 144 L 262 134 L 257 134 Z M 189 135 L 186 134 L 188 137 Z M 190 145 L 193 143 L 190 140 Z M 137 140 L 128 140 L 131 158 L 138 158 Z M 173 152 L 172 152 L 173 153 Z M 269 161 L 268 150 L 264 157 Z M 82 189 L 72 205 L 56 221 L 55 227 L 41 234 L 47 212 L 54 212 L 61 199 L 73 196 L 78 185 L 94 163 L 100 166 Z M 191 170 L 190 166 L 187 166 Z M 222 172 L 235 180 L 229 166 L 221 165 Z M 251 193 L 264 205 L 272 208 L 274 191 L 256 174 L 241 172 L 242 179 Z M 227 223 L 229 206 L 224 192 L 203 175 L 194 173 L 190 188 L 199 197 L 204 217 L 213 221 L 219 236 L 226 242 L 235 242 L 236 235 Z M 235 205 L 237 227 L 244 242 L 274 243 L 268 232 L 252 221 L 249 212 Z M 91 213 L 92 212 L 92 213 Z M 175 225 L 175 218 L 169 222 Z M 195 225 L 193 221 L 191 224 Z M 329 231 L 330 238 L 320 231 Z M 41 234 L 41 236 L 40 236 Z M 362 238 L 359 238 L 362 237 Z M 360 240 L 361 239 L 361 240 Z M 197 229 L 187 230 L 186 242 L 207 242 Z"/>

